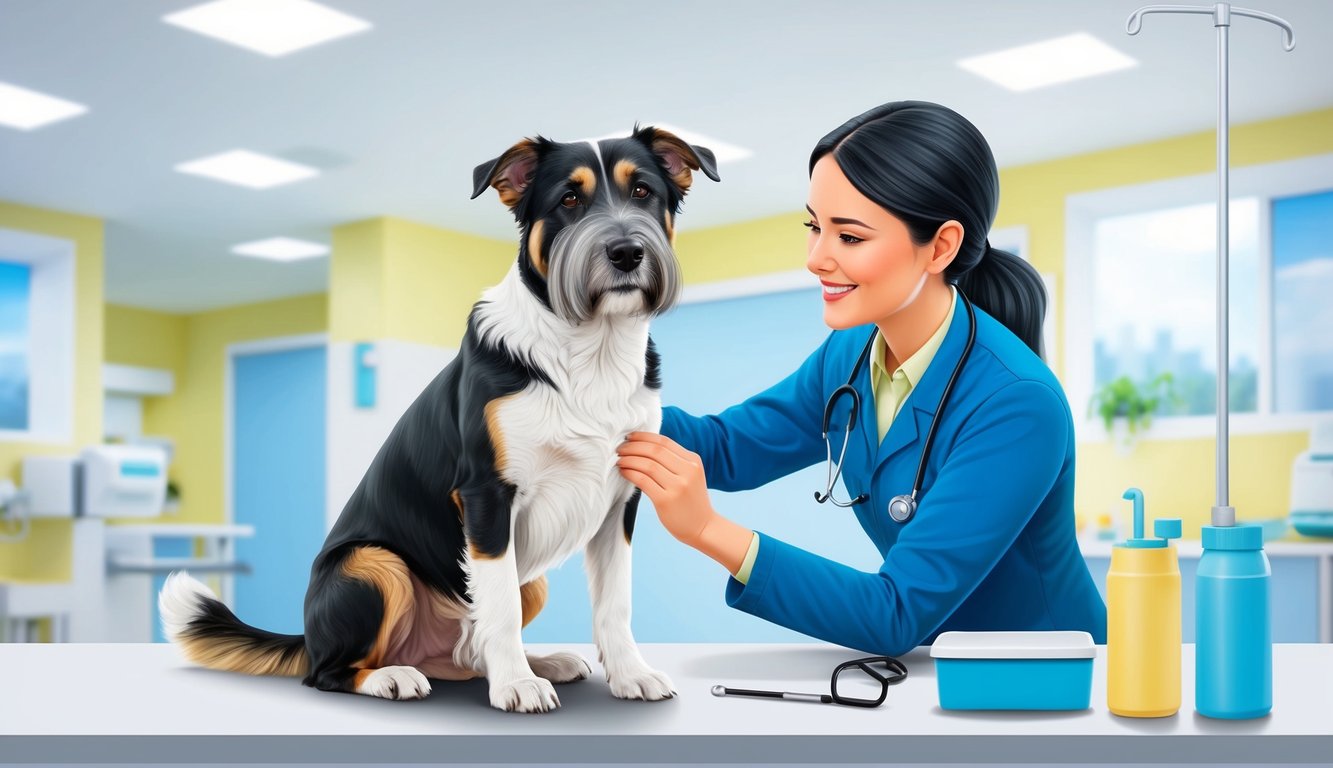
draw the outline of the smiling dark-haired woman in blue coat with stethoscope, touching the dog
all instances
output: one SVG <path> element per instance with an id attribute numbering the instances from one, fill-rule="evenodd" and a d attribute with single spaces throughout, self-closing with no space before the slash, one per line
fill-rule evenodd
<path id="1" fill-rule="evenodd" d="M 897 101 L 844 123 L 810 155 L 806 223 L 833 332 L 769 389 L 713 416 L 666 407 L 661 435 L 620 447 L 663 525 L 732 573 L 733 608 L 885 655 L 952 629 L 1105 643 L 1074 541 L 1073 420 L 1040 356 L 1045 291 L 986 241 L 998 191 L 985 139 L 945 107 Z M 814 496 L 856 515 L 884 557 L 873 573 L 709 501 L 708 488 L 822 461 Z"/>

